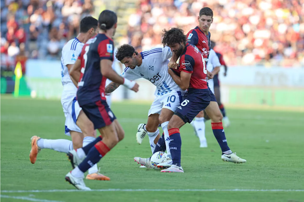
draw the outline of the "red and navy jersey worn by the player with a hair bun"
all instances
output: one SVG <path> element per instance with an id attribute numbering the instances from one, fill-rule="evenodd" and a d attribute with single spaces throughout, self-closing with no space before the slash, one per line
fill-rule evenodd
<path id="1" fill-rule="evenodd" d="M 89 39 L 82 49 L 84 73 L 78 84 L 77 99 L 79 105 L 105 100 L 105 81 L 102 76 L 100 61 L 108 59 L 113 61 L 114 42 L 105 34 L 97 34 Z"/>

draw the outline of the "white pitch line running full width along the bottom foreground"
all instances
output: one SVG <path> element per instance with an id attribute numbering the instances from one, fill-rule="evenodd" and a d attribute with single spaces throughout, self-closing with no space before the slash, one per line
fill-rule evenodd
<path id="1" fill-rule="evenodd" d="M 66 190 L 0 190 L 0 193 L 47 193 L 47 192 L 80 192 L 85 190 L 77 189 L 66 189 Z M 122 192 L 132 192 L 132 191 L 197 191 L 197 192 L 223 192 L 223 191 L 249 191 L 249 192 L 304 192 L 303 189 L 93 189 L 90 191 L 122 191 Z"/>

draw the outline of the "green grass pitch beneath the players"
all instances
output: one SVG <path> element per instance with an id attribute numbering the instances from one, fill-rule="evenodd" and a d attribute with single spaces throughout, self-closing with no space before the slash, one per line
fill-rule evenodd
<path id="1" fill-rule="evenodd" d="M 71 170 L 64 153 L 42 150 L 35 164 L 29 161 L 31 136 L 69 139 L 64 135 L 60 101 L 0 95 L 0 201 L 304 201 L 303 113 L 228 108 L 231 126 L 225 129 L 226 138 L 232 151 L 247 160 L 240 165 L 221 160 L 210 122 L 206 122 L 208 148 L 199 148 L 186 124 L 181 128 L 185 173 L 161 173 L 140 169 L 133 161 L 151 155 L 148 138 L 142 145 L 135 139 L 148 109 L 148 104 L 113 103 L 112 111 L 126 135 L 98 163 L 111 180 L 85 180 L 99 191 L 74 192 L 64 180 Z"/>

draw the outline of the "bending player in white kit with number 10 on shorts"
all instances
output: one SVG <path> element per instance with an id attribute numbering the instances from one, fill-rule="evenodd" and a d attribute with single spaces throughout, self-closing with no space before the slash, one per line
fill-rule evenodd
<path id="1" fill-rule="evenodd" d="M 147 125 L 144 125 L 143 129 L 147 131 L 150 147 L 154 153 L 157 145 L 163 145 L 158 144 L 158 139 L 156 139 L 159 135 L 158 125 L 161 124 L 164 135 L 159 138 L 158 142 L 163 141 L 166 145 L 166 148 L 162 148 L 162 150 L 167 149 L 168 163 L 171 161 L 171 154 L 167 126 L 185 93 L 168 73 L 168 59 L 171 56 L 172 52 L 169 47 L 153 48 L 138 53 L 128 44 L 120 46 L 116 52 L 116 58 L 126 66 L 121 74 L 122 77 L 130 80 L 144 78 L 157 87 L 154 102 L 148 112 Z M 106 86 L 105 93 L 113 92 L 118 86 L 119 84 L 114 82 L 110 83 Z M 140 157 L 135 157 L 134 160 L 144 166 L 150 165 L 148 162 L 141 162 Z"/>

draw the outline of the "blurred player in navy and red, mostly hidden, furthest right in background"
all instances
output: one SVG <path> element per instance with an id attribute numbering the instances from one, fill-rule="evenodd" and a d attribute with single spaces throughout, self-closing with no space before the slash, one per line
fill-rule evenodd
<path id="1" fill-rule="evenodd" d="M 211 41 L 211 48 L 214 49 L 216 43 Z M 219 52 L 216 51 L 216 55 L 219 58 L 219 62 L 221 63 L 221 65 L 224 66 L 225 72 L 224 72 L 224 76 L 227 76 L 227 65 L 223 59 L 222 54 L 220 54 Z M 226 110 L 224 108 L 223 103 L 221 102 L 221 91 L 220 91 L 220 86 L 219 86 L 219 74 L 214 75 L 213 77 L 213 82 L 214 82 L 214 95 L 216 98 L 217 103 L 219 104 L 219 109 L 221 110 L 222 114 L 223 114 L 223 126 L 224 127 L 228 127 L 230 126 L 230 121 L 228 119 L 228 116 L 226 116 Z"/>

